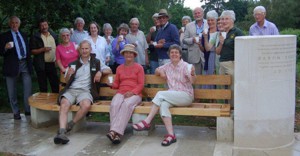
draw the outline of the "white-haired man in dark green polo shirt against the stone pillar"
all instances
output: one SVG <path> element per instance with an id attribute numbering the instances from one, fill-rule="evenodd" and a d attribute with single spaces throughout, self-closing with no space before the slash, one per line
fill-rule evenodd
<path id="1" fill-rule="evenodd" d="M 216 48 L 216 53 L 220 55 L 220 69 L 219 73 L 231 75 L 232 82 L 234 82 L 234 39 L 237 36 L 244 36 L 243 32 L 234 26 L 235 13 L 232 10 L 225 10 L 221 14 L 221 23 L 224 31 L 226 32 L 226 38 L 220 35 L 220 42 Z M 231 85 L 231 89 L 234 89 L 234 83 Z M 233 95 L 233 94 L 232 94 Z M 232 97 L 232 99 L 234 99 Z M 233 105 L 233 100 L 230 102 Z"/>

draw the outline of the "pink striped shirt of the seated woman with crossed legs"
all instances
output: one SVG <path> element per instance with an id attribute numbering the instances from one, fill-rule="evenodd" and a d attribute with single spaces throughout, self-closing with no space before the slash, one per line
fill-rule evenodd
<path id="1" fill-rule="evenodd" d="M 190 81 L 191 73 L 188 72 L 188 63 L 182 59 L 177 65 L 167 63 L 159 67 L 166 73 L 169 90 L 184 91 L 190 96 L 194 96 L 192 82 Z"/>

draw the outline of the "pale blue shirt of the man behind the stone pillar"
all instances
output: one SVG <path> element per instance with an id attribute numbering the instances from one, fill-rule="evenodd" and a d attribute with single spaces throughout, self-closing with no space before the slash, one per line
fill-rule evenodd
<path id="1" fill-rule="evenodd" d="M 259 35 L 279 35 L 276 25 L 267 20 L 264 21 L 264 26 L 261 28 L 257 22 L 254 23 L 249 30 L 250 36 L 259 36 Z"/>

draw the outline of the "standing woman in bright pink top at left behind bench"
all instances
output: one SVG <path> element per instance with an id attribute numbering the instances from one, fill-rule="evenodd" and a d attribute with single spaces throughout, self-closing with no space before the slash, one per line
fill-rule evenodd
<path id="1" fill-rule="evenodd" d="M 56 64 L 61 73 L 65 73 L 69 63 L 75 61 L 79 57 L 76 45 L 70 42 L 70 31 L 67 28 L 60 29 L 60 37 L 62 43 L 56 47 Z"/>

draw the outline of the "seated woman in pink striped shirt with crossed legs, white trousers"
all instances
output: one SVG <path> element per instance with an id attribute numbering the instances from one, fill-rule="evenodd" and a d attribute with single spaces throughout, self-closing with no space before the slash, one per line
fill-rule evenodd
<path id="1" fill-rule="evenodd" d="M 188 106 L 194 99 L 192 83 L 195 80 L 195 68 L 181 59 L 181 47 L 176 44 L 170 46 L 168 55 L 171 62 L 158 67 L 155 74 L 167 80 L 169 89 L 157 92 L 147 118 L 133 125 L 136 131 L 149 129 L 152 119 L 160 111 L 168 132 L 161 143 L 162 146 L 169 146 L 176 142 L 169 107 Z"/>

